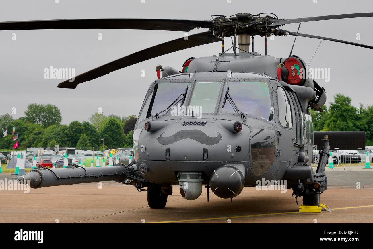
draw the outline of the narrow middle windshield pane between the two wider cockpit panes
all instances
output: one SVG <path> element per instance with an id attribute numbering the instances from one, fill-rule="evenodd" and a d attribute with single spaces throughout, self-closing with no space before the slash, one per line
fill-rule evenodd
<path id="1" fill-rule="evenodd" d="M 190 106 L 198 107 L 200 113 L 214 113 L 222 82 L 196 82 Z"/>

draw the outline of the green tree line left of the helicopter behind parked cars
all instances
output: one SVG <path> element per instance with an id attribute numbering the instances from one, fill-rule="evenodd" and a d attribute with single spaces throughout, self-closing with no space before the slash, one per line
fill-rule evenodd
<path id="1" fill-rule="evenodd" d="M 13 119 L 9 114 L 0 116 L 0 130 L 8 130 L 8 136 L 0 138 L 0 148 L 13 148 L 12 130 L 16 126 L 19 147 L 72 147 L 105 148 L 132 147 L 132 130 L 137 121 L 136 116 L 105 116 L 94 113 L 88 121 L 73 121 L 61 124 L 62 116 L 55 105 L 31 103 L 27 106 L 25 116 Z M 0 133 L 1 134 L 1 133 Z M 104 140 L 103 140 L 104 139 Z M 103 144 L 105 148 L 103 148 Z"/>

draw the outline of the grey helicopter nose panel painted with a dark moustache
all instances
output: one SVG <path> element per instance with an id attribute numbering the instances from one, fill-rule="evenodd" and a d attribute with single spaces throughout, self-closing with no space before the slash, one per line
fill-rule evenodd
<path id="1" fill-rule="evenodd" d="M 142 130 L 140 160 L 243 161 L 250 144 L 250 128 L 227 120 L 195 119 L 164 121 L 154 132 Z M 152 124 L 153 125 L 153 124 Z M 143 148 L 146 148 L 145 150 Z"/>

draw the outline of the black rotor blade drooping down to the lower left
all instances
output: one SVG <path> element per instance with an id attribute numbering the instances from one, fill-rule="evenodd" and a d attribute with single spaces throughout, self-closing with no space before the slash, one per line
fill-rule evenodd
<path id="1" fill-rule="evenodd" d="M 58 84 L 60 88 L 76 88 L 76 86 L 82 82 L 90 81 L 92 79 L 107 75 L 108 73 L 114 72 L 123 67 L 128 67 L 133 64 L 143 62 L 164 54 L 169 54 L 175 51 L 191 48 L 199 45 L 209 44 L 216 41 L 221 41 L 221 38 L 211 36 L 209 31 L 198 33 L 195 35 L 189 35 L 188 40 L 185 37 L 167 41 L 159 45 L 155 45 L 150 48 L 138 51 L 130 54 L 113 62 L 107 63 L 103 66 L 97 67 L 88 72 L 82 73 L 75 77 L 74 81 L 66 80 Z"/>

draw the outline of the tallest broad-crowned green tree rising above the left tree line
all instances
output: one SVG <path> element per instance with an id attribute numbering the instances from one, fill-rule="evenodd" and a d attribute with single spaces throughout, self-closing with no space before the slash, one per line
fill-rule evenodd
<path id="1" fill-rule="evenodd" d="M 62 116 L 56 105 L 30 103 L 25 111 L 26 120 L 44 127 L 60 124 Z"/>

